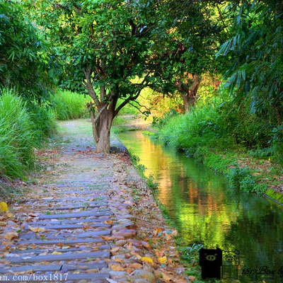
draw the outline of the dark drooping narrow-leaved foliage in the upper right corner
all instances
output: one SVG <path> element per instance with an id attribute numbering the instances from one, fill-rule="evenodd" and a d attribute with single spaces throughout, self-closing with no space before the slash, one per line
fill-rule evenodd
<path id="1" fill-rule="evenodd" d="M 229 40 L 219 49 L 226 86 L 238 100 L 249 96 L 250 110 L 273 125 L 283 118 L 283 13 L 280 1 L 231 1 Z"/>

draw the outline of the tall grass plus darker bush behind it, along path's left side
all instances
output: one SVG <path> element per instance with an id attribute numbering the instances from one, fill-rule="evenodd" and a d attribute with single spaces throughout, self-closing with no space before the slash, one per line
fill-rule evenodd
<path id="1" fill-rule="evenodd" d="M 35 168 L 34 149 L 55 132 L 52 111 L 27 105 L 15 91 L 0 91 L 0 178 L 25 178 Z M 8 186 L 11 187 L 11 186 Z M 7 187 L 7 190 L 8 190 Z"/>

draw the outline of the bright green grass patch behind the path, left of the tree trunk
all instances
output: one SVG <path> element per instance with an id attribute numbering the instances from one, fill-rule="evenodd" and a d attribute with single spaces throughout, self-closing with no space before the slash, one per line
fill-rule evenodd
<path id="1" fill-rule="evenodd" d="M 88 117 L 86 103 L 90 100 L 82 94 L 71 91 L 56 91 L 50 98 L 55 117 L 58 120 L 79 119 Z"/>

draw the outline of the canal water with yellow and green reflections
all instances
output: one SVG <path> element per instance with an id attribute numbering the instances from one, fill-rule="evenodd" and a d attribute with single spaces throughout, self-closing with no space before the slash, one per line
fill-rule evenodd
<path id="1" fill-rule="evenodd" d="M 239 264 L 240 282 L 260 278 L 266 283 L 283 282 L 283 207 L 232 190 L 222 176 L 202 163 L 151 141 L 141 131 L 122 132 L 118 138 L 139 156 L 145 175 L 154 175 L 157 197 L 187 246 L 202 243 L 205 248 L 224 250 L 225 256 L 234 257 L 228 258 L 227 265 Z M 226 277 L 236 276 L 233 266 L 227 269 Z M 243 270 L 248 275 L 241 275 Z"/>

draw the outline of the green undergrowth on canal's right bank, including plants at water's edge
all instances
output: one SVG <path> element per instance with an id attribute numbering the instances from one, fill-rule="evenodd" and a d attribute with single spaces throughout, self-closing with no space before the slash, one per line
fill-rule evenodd
<path id="1" fill-rule="evenodd" d="M 231 153 L 250 151 L 252 156 L 275 160 L 279 149 L 271 144 L 281 149 L 279 138 L 274 141 L 271 127 L 251 114 L 247 105 L 236 109 L 232 103 L 228 96 L 216 97 L 198 103 L 185 115 L 170 112 L 156 123 L 155 137 L 223 174 L 231 187 L 262 195 L 267 185 L 248 168 L 241 168 Z"/>

